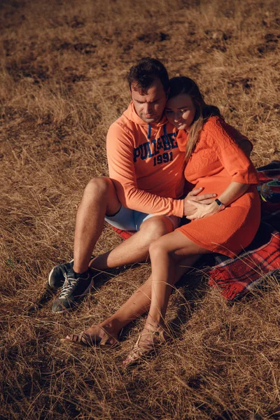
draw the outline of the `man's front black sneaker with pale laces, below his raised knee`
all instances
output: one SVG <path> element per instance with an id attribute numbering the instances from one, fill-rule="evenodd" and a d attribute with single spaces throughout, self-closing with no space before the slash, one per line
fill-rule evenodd
<path id="1" fill-rule="evenodd" d="M 83 274 L 73 272 L 73 268 L 69 267 L 64 273 L 65 281 L 62 291 L 52 304 L 52 312 L 57 314 L 69 311 L 77 306 L 78 302 L 85 297 L 94 285 L 92 274 L 87 270 Z"/>

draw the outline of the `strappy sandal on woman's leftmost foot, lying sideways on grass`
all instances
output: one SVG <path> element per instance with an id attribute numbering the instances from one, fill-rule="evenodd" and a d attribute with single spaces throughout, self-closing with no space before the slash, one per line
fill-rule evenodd
<path id="1" fill-rule="evenodd" d="M 71 334 L 69 338 L 62 338 L 60 341 L 66 344 L 75 344 L 76 346 L 84 346 L 84 347 L 100 347 L 101 349 L 111 349 L 111 347 L 116 346 L 119 342 L 117 337 L 109 334 L 103 327 L 99 327 L 105 335 L 102 337 L 100 341 L 97 341 L 90 335 L 85 334 L 85 332 L 81 332 L 80 334 Z M 107 343 L 109 339 L 113 338 L 112 343 Z M 98 338 L 97 338 L 98 339 Z"/>

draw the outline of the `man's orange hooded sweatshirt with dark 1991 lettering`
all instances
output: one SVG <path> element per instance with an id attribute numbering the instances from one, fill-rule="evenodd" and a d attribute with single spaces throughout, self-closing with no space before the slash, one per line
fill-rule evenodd
<path id="1" fill-rule="evenodd" d="M 107 134 L 109 176 L 123 206 L 148 214 L 183 216 L 184 158 L 174 126 L 147 124 L 132 102 Z"/>

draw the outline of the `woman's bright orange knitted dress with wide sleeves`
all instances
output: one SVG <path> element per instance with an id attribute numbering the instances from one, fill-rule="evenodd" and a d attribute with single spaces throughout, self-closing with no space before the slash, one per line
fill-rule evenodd
<path id="1" fill-rule="evenodd" d="M 204 124 L 200 140 L 185 169 L 186 180 L 203 187 L 202 193 L 219 197 L 232 181 L 258 184 L 258 175 L 250 159 L 234 139 L 242 136 L 223 118 L 211 117 Z M 188 136 L 177 137 L 181 151 Z M 251 185 L 246 193 L 217 214 L 190 221 L 178 228 L 195 244 L 212 252 L 234 258 L 248 246 L 260 225 L 260 199 Z"/>

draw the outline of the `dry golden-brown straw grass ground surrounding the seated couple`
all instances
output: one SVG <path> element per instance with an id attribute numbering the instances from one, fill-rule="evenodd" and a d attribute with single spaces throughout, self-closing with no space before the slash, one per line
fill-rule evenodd
<path id="1" fill-rule="evenodd" d="M 83 188 L 106 175 L 106 130 L 125 110 L 127 70 L 158 57 L 279 159 L 280 3 L 273 0 L 1 0 L 1 419 L 280 419 L 280 288 L 227 304 L 188 281 L 174 290 L 174 342 L 126 372 L 143 325 L 111 351 L 59 339 L 118 309 L 150 271 L 127 269 L 81 307 L 31 313 L 48 271 L 72 256 Z M 95 253 L 116 246 L 108 227 Z"/>

